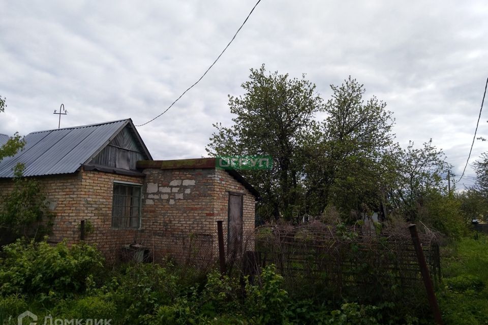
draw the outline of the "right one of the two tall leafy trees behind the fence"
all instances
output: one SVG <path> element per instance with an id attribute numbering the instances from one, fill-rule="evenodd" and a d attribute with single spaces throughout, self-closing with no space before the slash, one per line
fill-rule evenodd
<path id="1" fill-rule="evenodd" d="M 392 113 L 375 96 L 364 100 L 364 86 L 351 77 L 330 87 L 328 116 L 305 150 L 310 213 L 321 213 L 327 204 L 345 215 L 377 210 L 392 178 Z"/>

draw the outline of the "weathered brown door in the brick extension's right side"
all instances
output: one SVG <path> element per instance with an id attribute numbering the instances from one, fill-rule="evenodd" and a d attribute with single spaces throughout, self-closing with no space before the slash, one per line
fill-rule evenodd
<path id="1" fill-rule="evenodd" d="M 231 256 L 242 251 L 242 195 L 229 193 L 227 252 Z"/>

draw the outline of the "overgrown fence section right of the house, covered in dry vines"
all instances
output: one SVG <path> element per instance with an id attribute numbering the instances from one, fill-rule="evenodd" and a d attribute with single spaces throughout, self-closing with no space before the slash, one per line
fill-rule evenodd
<path id="1" fill-rule="evenodd" d="M 420 240 L 434 283 L 440 257 L 434 234 Z M 286 287 L 307 295 L 369 297 L 420 288 L 422 278 L 408 229 L 367 229 L 306 225 L 261 226 L 256 230 L 260 265 L 275 264 Z"/>

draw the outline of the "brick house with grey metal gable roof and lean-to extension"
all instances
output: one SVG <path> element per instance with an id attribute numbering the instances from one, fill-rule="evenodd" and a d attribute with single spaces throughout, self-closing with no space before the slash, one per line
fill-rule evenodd
<path id="1" fill-rule="evenodd" d="M 236 171 L 216 169 L 215 158 L 153 160 L 131 119 L 34 132 L 25 141 L 0 161 L 0 196 L 23 163 L 56 214 L 52 242 L 79 242 L 84 220 L 85 242 L 109 258 L 128 244 L 156 260 L 195 250 L 207 258 L 222 220 L 228 250 L 252 249 L 246 238 L 259 194 Z"/>

